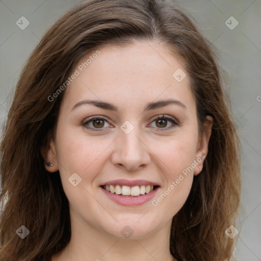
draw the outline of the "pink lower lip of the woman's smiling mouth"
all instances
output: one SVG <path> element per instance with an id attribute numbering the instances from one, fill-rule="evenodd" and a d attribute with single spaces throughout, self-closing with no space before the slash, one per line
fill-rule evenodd
<path id="1" fill-rule="evenodd" d="M 123 205 L 123 206 L 137 206 L 137 205 L 142 205 L 149 200 L 153 198 L 155 193 L 158 191 L 159 187 L 156 187 L 154 190 L 152 190 L 148 194 L 140 195 L 140 196 L 120 196 L 115 193 L 111 193 L 103 188 L 100 187 L 102 192 L 112 201 Z"/>

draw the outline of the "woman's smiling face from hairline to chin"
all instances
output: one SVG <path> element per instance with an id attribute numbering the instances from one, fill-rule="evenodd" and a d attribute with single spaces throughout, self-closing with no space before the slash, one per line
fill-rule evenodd
<path id="1" fill-rule="evenodd" d="M 46 169 L 59 169 L 73 224 L 138 239 L 184 205 L 210 130 L 199 135 L 189 76 L 165 45 L 97 49 L 72 71 Z"/>

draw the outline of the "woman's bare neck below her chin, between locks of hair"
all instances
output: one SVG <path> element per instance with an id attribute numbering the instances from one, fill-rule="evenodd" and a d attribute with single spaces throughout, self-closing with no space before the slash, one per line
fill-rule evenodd
<path id="1" fill-rule="evenodd" d="M 159 231 L 140 239 L 119 239 L 86 222 L 71 220 L 71 240 L 51 261 L 172 261 L 169 250 L 171 220 Z"/>

